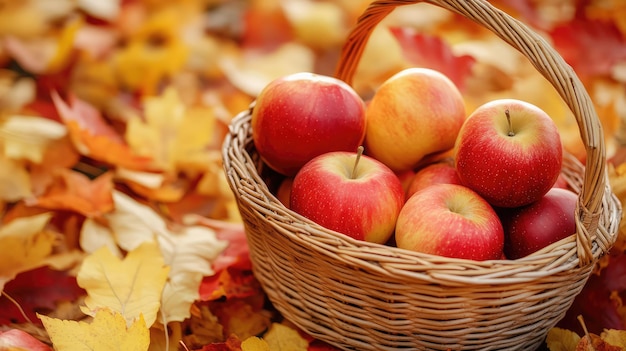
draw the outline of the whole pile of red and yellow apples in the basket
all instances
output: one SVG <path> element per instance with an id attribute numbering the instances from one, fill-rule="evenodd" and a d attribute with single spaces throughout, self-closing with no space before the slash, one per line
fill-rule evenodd
<path id="1" fill-rule="evenodd" d="M 572 235 L 577 195 L 553 120 L 524 101 L 469 116 L 440 72 L 409 68 L 367 103 L 313 73 L 274 80 L 251 116 L 293 211 L 358 240 L 445 257 L 516 259 Z"/>

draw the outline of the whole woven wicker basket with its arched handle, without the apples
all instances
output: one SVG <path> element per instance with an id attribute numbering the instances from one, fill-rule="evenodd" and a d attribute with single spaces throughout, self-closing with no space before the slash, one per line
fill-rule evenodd
<path id="1" fill-rule="evenodd" d="M 376 1 L 347 39 L 336 76 L 350 83 L 373 28 L 396 6 Z M 232 121 L 224 168 L 254 272 L 274 306 L 344 350 L 535 350 L 616 240 L 621 207 L 607 181 L 604 136 L 584 87 L 541 37 L 484 0 L 430 0 L 521 51 L 574 113 L 586 167 L 566 155 L 577 232 L 518 260 L 475 262 L 356 241 L 285 208 L 254 150 L 250 110 Z"/>

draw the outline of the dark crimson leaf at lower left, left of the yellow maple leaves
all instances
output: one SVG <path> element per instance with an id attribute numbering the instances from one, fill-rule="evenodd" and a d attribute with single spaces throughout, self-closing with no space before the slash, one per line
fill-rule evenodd
<path id="1" fill-rule="evenodd" d="M 18 274 L 5 285 L 3 293 L 20 305 L 32 323 L 41 324 L 35 313 L 52 311 L 57 302 L 75 301 L 85 291 L 78 286 L 75 277 L 41 267 Z M 4 294 L 0 296 L 0 325 L 25 322 L 28 320 L 20 309 Z"/>

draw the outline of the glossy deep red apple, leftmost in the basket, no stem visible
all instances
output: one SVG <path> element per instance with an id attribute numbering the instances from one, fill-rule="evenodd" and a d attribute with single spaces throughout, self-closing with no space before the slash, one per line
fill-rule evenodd
<path id="1" fill-rule="evenodd" d="M 265 163 L 294 176 L 315 156 L 363 143 L 365 102 L 345 82 L 309 72 L 270 82 L 252 108 L 252 138 Z"/>

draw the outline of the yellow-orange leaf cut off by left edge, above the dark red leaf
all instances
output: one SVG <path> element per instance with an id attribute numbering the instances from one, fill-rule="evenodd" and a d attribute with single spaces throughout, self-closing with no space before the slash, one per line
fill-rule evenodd
<path id="1" fill-rule="evenodd" d="M 0 291 L 18 273 L 44 265 L 57 236 L 45 230 L 52 215 L 22 217 L 0 227 Z"/>

